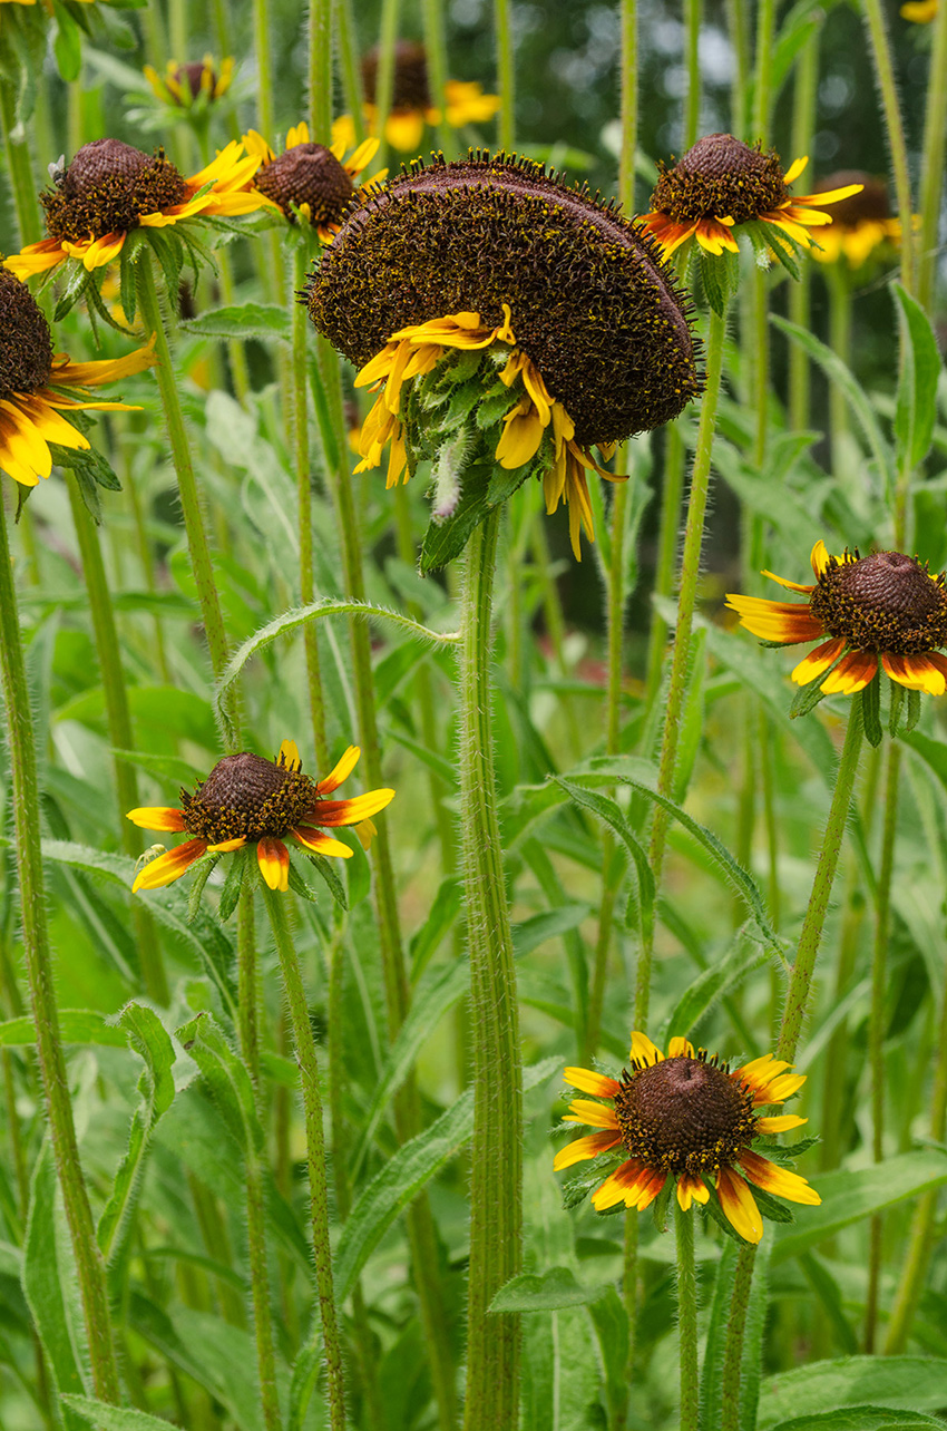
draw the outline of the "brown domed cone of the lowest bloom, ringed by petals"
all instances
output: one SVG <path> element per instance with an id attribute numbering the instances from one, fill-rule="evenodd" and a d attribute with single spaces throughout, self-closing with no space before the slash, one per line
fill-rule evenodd
<path id="1" fill-rule="evenodd" d="M 678 1175 L 730 1166 L 755 1129 L 752 1095 L 701 1058 L 622 1073 L 615 1115 L 632 1158 Z"/>

